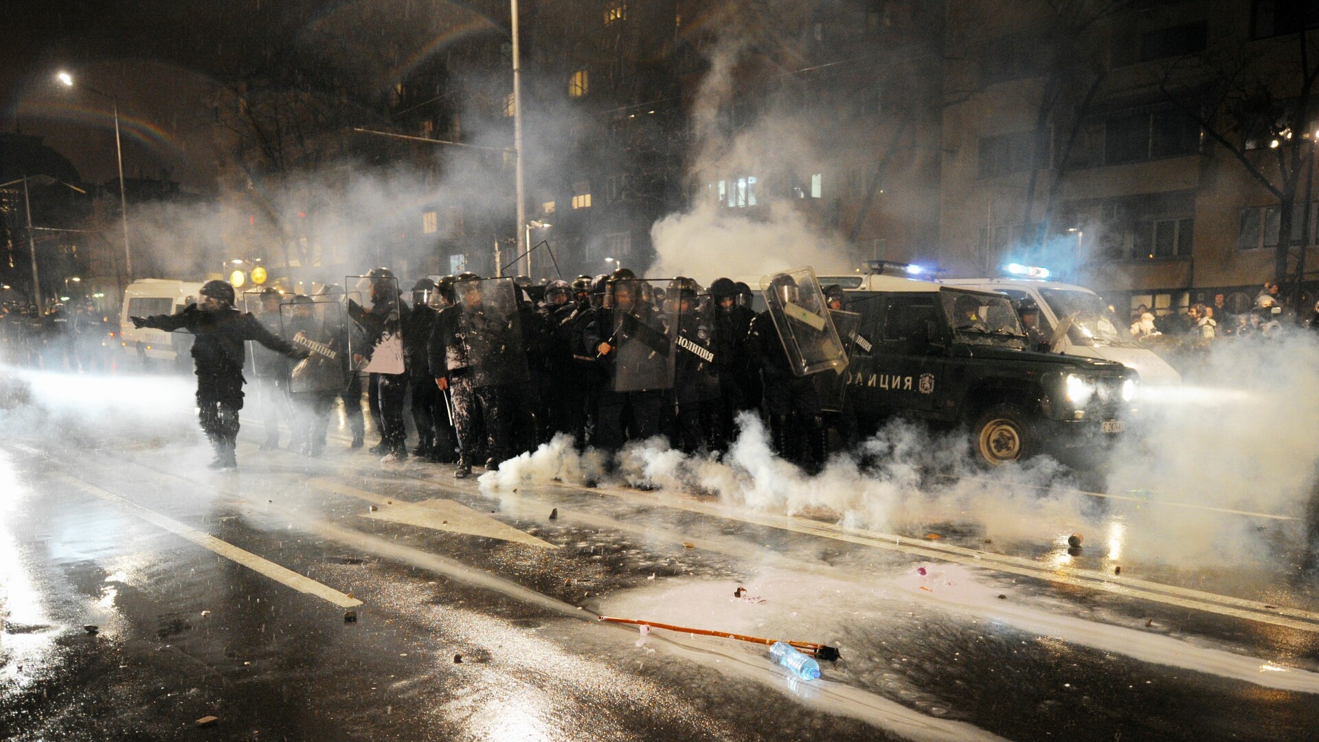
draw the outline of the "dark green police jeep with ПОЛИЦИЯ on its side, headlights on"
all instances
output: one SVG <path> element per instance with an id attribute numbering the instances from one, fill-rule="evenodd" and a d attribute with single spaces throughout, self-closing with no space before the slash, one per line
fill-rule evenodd
<path id="1" fill-rule="evenodd" d="M 1009 297 L 885 275 L 847 279 L 844 309 L 861 314 L 861 326 L 845 405 L 863 432 L 893 415 L 966 426 L 977 458 L 1002 465 L 1037 453 L 1092 458 L 1129 421 L 1136 372 L 1038 351 Z"/>

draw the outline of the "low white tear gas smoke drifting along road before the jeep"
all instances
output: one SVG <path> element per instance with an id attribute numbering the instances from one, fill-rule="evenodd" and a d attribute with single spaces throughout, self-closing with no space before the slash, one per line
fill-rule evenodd
<path id="1" fill-rule="evenodd" d="M 1074 473 L 1047 457 L 987 471 L 972 463 L 964 430 L 934 433 L 907 421 L 885 425 L 856 454 L 835 455 L 809 475 L 774 455 L 760 419 L 744 413 L 723 457 L 686 455 L 656 438 L 621 452 L 617 478 L 882 532 L 921 535 L 951 525 L 1039 544 L 1082 531 L 1093 535 L 1087 548 L 1107 549 L 1101 553 L 1111 560 L 1264 565 L 1297 560 L 1306 548 L 1303 519 L 1319 459 L 1316 367 L 1319 343 L 1308 334 L 1221 342 L 1204 360 L 1207 378 L 1219 386 L 1159 405 L 1157 417 L 1124 438 L 1104 469 L 1111 494 L 1295 520 L 1096 498 L 1079 491 Z M 1217 396 L 1225 401 L 1202 401 Z M 480 483 L 496 492 L 555 478 L 596 479 L 600 471 L 596 452 L 578 454 L 561 436 Z"/>

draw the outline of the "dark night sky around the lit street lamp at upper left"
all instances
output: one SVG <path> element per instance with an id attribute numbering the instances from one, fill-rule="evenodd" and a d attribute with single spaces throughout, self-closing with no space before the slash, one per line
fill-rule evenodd
<path id="1" fill-rule="evenodd" d="M 220 84 L 331 70 L 363 100 L 434 54 L 455 28 L 495 29 L 480 4 L 417 0 L 11 0 L 0 44 L 0 127 L 40 135 L 87 181 L 113 178 L 109 100 L 54 82 L 59 70 L 117 94 L 129 177 L 215 182 Z M 492 12 L 503 4 L 489 4 Z"/>

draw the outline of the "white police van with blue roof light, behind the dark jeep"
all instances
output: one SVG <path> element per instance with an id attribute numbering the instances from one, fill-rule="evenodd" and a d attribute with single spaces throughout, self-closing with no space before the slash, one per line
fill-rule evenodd
<path id="1" fill-rule="evenodd" d="M 820 279 L 824 283 L 824 279 Z M 1182 375 L 1153 350 L 1136 342 L 1129 322 L 1113 314 L 1086 287 L 1035 279 L 940 279 L 939 283 L 1010 296 L 1020 308 L 1039 308 L 1039 334 L 1053 338 L 1053 353 L 1117 360 L 1151 386 L 1181 384 Z M 1066 323 L 1064 333 L 1054 330 Z"/>

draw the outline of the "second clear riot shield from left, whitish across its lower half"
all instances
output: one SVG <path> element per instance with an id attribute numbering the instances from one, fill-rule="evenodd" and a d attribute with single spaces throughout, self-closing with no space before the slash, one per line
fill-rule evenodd
<path id="1" fill-rule="evenodd" d="M 404 333 L 398 313 L 398 280 L 393 276 L 344 276 L 348 317 L 361 330 L 348 349 L 352 367 L 368 374 L 402 374 Z"/>

